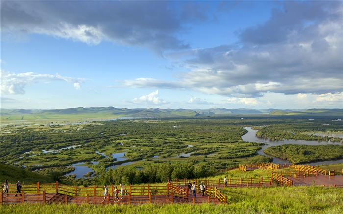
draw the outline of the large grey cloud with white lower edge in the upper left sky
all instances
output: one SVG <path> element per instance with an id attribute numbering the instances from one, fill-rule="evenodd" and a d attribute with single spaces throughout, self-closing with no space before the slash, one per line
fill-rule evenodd
<path id="1" fill-rule="evenodd" d="M 157 52 L 184 49 L 177 38 L 183 25 L 199 19 L 172 1 L 1 1 L 1 31 L 45 34 L 87 44 L 111 41 L 146 46 Z M 193 4 L 193 3 L 191 3 Z M 188 12 L 188 13 L 187 13 Z M 180 13 L 187 14 L 180 17 Z M 192 14 L 199 13 L 193 7 Z"/>

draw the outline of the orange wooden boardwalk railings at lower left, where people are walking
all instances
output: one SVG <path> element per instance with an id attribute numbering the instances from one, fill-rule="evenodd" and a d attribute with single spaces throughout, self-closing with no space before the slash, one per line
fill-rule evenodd
<path id="1" fill-rule="evenodd" d="M 189 197 L 186 188 L 174 184 L 167 185 L 129 185 L 125 186 L 123 196 L 113 194 L 113 186 L 108 186 L 109 194 L 103 196 L 103 187 L 72 187 L 59 184 L 22 184 L 21 194 L 16 195 L 15 185 L 10 184 L 9 193 L 0 193 L 0 204 L 20 204 L 20 203 L 74 203 L 74 204 L 137 204 L 137 203 L 174 203 L 174 197 L 178 197 L 178 202 L 185 200 L 193 203 L 203 202 L 226 202 L 225 196 L 217 189 L 209 188 L 206 194 L 209 199 L 206 201 L 195 200 Z M 212 197 L 211 197 L 212 196 Z M 118 197 L 118 198 L 117 198 Z"/>

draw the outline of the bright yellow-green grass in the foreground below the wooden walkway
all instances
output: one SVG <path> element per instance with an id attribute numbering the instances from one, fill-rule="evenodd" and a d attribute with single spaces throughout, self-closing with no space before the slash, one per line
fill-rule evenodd
<path id="1" fill-rule="evenodd" d="M 222 190 L 227 204 L 3 205 L 1 214 L 341 214 L 343 189 L 310 187 Z"/>

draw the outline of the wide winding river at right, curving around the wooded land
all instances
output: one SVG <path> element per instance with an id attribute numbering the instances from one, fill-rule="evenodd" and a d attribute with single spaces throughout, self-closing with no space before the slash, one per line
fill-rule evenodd
<path id="1" fill-rule="evenodd" d="M 247 142 L 259 142 L 259 143 L 266 143 L 266 145 L 262 146 L 261 150 L 258 150 L 257 153 L 260 155 L 267 155 L 263 151 L 271 146 L 278 146 L 283 144 L 297 144 L 297 145 L 341 145 L 341 142 L 331 142 L 331 141 L 305 141 L 305 140 L 292 140 L 292 139 L 284 139 L 282 141 L 271 141 L 268 138 L 258 138 L 256 137 L 257 130 L 252 129 L 251 127 L 244 127 L 248 132 L 245 135 L 242 135 L 242 140 Z M 267 155 L 270 156 L 270 155 Z M 276 157 L 273 157 L 274 164 L 292 164 L 287 160 L 282 160 Z M 311 165 L 319 165 L 319 164 L 333 164 L 333 163 L 342 163 L 343 159 L 335 160 L 335 161 L 321 161 L 315 163 L 307 163 Z"/>

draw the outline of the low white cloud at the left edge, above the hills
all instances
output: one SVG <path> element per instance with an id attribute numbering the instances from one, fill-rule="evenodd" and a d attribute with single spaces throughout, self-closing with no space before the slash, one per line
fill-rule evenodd
<path id="1" fill-rule="evenodd" d="M 3 94 L 25 94 L 25 88 L 34 83 L 49 83 L 51 81 L 66 81 L 72 82 L 76 90 L 80 90 L 80 83 L 83 79 L 65 77 L 59 74 L 39 74 L 33 72 L 27 73 L 9 73 L 0 70 L 1 87 L 0 91 Z"/>

